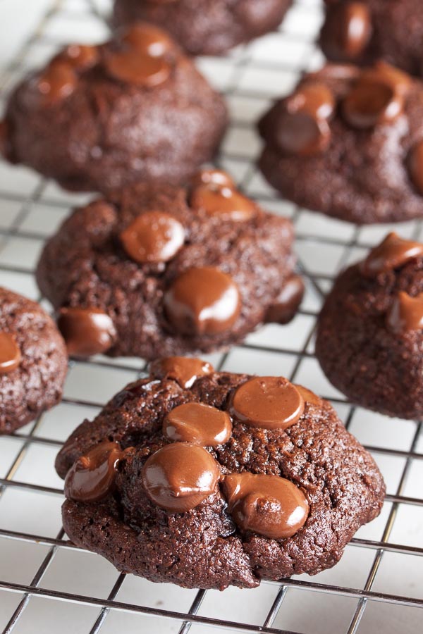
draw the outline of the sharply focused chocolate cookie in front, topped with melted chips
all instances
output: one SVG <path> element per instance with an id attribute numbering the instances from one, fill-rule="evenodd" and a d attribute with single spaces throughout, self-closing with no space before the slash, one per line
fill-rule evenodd
<path id="1" fill-rule="evenodd" d="M 330 568 L 385 490 L 372 456 L 316 394 L 186 358 L 154 363 L 82 423 L 56 469 L 75 544 L 185 588 L 253 588 Z"/>

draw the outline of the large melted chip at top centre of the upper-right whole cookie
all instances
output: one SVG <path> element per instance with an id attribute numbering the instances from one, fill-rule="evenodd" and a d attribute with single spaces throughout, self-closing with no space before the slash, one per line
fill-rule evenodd
<path id="1" fill-rule="evenodd" d="M 343 101 L 343 115 L 354 128 L 391 123 L 403 112 L 410 77 L 384 62 L 365 70 Z"/>

